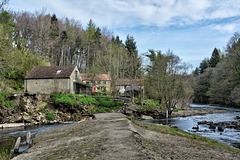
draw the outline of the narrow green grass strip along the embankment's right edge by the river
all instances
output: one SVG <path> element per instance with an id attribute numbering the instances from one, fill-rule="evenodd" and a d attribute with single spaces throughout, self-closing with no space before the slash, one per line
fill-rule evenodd
<path id="1" fill-rule="evenodd" d="M 223 145 L 223 144 L 221 144 L 217 141 L 214 141 L 214 140 L 211 140 L 211 139 L 208 139 L 208 138 L 205 138 L 205 137 L 201 137 L 201 136 L 198 136 L 198 135 L 195 135 L 195 134 L 185 132 L 185 131 L 183 131 L 181 129 L 178 129 L 178 128 L 167 127 L 167 126 L 158 126 L 158 125 L 151 124 L 151 123 L 136 121 L 136 120 L 133 120 L 130 117 L 127 117 L 127 118 L 130 119 L 134 124 L 136 124 L 136 125 L 138 125 L 142 128 L 145 128 L 147 130 L 160 132 L 160 133 L 163 133 L 163 134 L 170 134 L 170 135 L 175 135 L 175 136 L 187 137 L 187 138 L 190 138 L 190 139 L 195 139 L 195 140 L 198 140 L 198 141 L 206 142 L 208 145 L 214 145 L 214 146 L 218 146 L 220 148 L 224 148 L 224 149 L 231 150 L 233 152 L 240 153 L 240 151 L 238 149 L 228 147 L 228 146 Z"/>

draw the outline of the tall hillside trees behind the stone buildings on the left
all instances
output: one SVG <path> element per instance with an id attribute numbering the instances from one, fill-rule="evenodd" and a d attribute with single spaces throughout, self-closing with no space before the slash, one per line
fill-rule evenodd
<path id="1" fill-rule="evenodd" d="M 140 78 L 141 58 L 133 36 L 125 43 L 92 20 L 79 21 L 42 12 L 0 8 L 0 88 L 21 89 L 27 71 L 42 65 L 77 65 L 81 72 L 110 73 L 118 78 Z M 113 83 L 114 84 L 114 83 Z"/>

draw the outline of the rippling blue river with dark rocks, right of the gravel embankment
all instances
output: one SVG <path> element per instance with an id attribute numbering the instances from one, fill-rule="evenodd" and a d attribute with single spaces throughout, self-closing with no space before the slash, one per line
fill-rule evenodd
<path id="1" fill-rule="evenodd" d="M 223 132 L 219 132 L 217 129 L 209 129 L 209 125 L 199 125 L 199 130 L 192 129 L 197 125 L 199 121 L 212 121 L 213 123 L 238 121 L 236 116 L 240 116 L 239 108 L 228 108 L 219 105 L 200 105 L 191 104 L 190 109 L 205 109 L 205 110 L 224 110 L 225 113 L 207 114 L 202 116 L 189 116 L 189 117 L 176 117 L 169 119 L 154 119 L 144 120 L 146 122 L 177 126 L 178 128 L 194 133 L 203 137 L 208 137 L 217 141 L 220 141 L 230 147 L 240 149 L 240 130 L 233 128 L 225 128 Z"/>

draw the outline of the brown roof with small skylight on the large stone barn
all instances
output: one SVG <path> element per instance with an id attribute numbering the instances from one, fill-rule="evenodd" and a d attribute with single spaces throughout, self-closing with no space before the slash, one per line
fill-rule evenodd
<path id="1" fill-rule="evenodd" d="M 34 67 L 30 72 L 27 73 L 25 79 L 69 78 L 75 67 L 76 66 Z"/>

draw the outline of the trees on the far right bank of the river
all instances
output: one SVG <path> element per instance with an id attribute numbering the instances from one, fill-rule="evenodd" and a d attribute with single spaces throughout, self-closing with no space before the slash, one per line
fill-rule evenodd
<path id="1" fill-rule="evenodd" d="M 240 106 L 240 34 L 231 37 L 225 53 L 215 48 L 193 74 L 194 102 Z"/>

